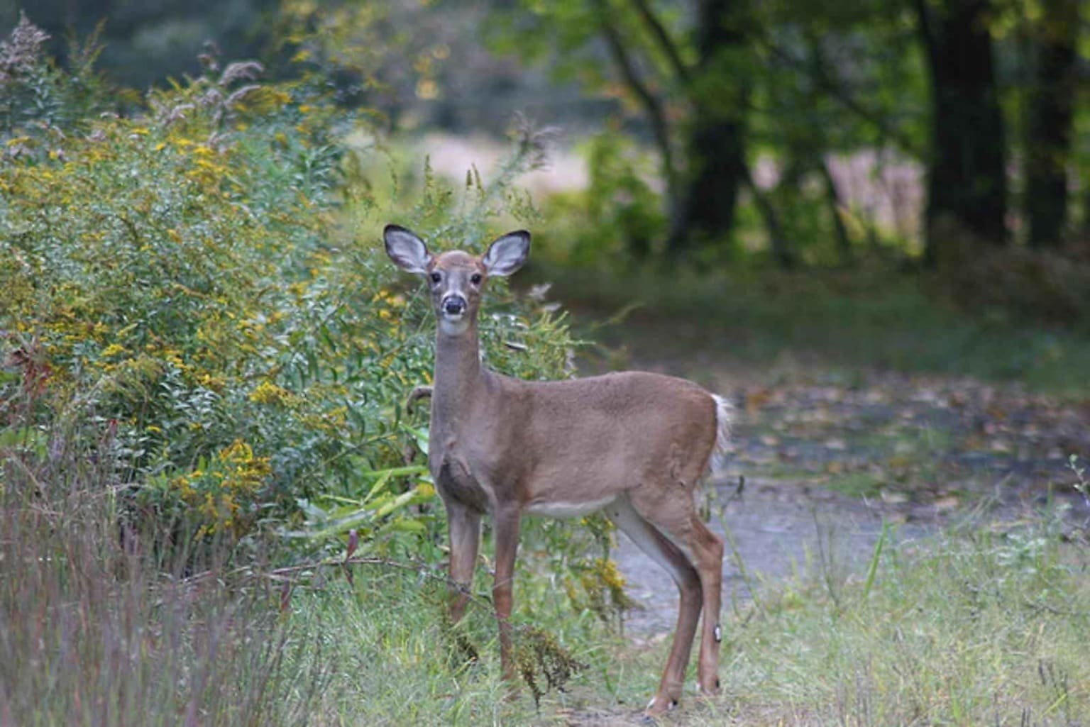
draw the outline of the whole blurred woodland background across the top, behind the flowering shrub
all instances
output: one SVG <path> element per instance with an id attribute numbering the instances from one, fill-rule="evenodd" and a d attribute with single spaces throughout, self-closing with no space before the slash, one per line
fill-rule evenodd
<path id="1" fill-rule="evenodd" d="M 335 69 L 338 102 L 388 129 L 499 132 L 522 110 L 579 135 L 622 134 L 638 145 L 607 155 L 621 181 L 593 185 L 581 208 L 621 228 L 584 225 L 584 253 L 614 235 L 633 259 L 758 251 L 785 267 L 882 249 L 942 263 L 961 259 L 945 249 L 965 240 L 1090 257 L 1082 0 L 40 0 L 27 11 L 59 51 L 65 31 L 86 36 L 105 20 L 100 68 L 114 82 L 193 68 L 208 38 L 261 56 L 274 77 Z M 15 17 L 3 0 L 0 19 Z M 647 199 L 629 189 L 649 179 L 641 149 L 656 160 L 654 213 L 632 208 Z M 919 220 L 894 229 L 845 189 L 837 167 L 867 155 L 874 185 L 923 169 Z"/>

